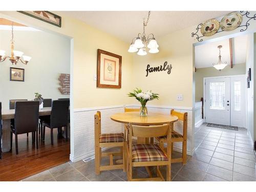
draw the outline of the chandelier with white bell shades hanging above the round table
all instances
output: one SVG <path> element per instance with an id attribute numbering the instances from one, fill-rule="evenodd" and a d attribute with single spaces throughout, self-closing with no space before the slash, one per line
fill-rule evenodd
<path id="1" fill-rule="evenodd" d="M 147 26 L 148 19 L 150 18 L 151 11 L 148 11 L 148 16 L 147 20 L 143 21 L 143 33 L 139 33 L 137 37 L 134 37 L 132 39 L 132 43 L 129 47 L 128 52 L 130 53 L 135 53 L 137 52 L 138 55 L 146 55 L 146 47 L 149 48 L 150 50 L 148 52 L 150 53 L 158 53 L 158 47 L 159 45 L 157 44 L 157 41 L 154 37 L 154 34 L 151 33 L 146 37 L 145 34 L 145 27 Z"/>

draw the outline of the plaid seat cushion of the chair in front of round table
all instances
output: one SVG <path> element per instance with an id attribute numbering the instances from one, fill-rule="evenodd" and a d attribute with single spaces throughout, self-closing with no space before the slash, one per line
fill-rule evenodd
<path id="1" fill-rule="evenodd" d="M 155 144 L 133 144 L 132 161 L 168 161 L 161 148 Z"/>

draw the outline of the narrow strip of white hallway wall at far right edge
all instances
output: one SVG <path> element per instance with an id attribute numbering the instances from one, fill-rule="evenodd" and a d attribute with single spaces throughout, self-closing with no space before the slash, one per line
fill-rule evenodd
<path id="1" fill-rule="evenodd" d="M 249 68 L 251 68 L 250 88 L 247 89 L 247 121 L 246 127 L 250 132 L 251 139 L 253 139 L 253 33 L 248 35 L 248 45 L 246 54 L 246 75 Z"/>

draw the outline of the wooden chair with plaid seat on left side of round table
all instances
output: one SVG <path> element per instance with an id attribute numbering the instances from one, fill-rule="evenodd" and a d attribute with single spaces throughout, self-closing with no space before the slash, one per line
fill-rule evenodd
<path id="1" fill-rule="evenodd" d="M 124 161 L 124 137 L 123 133 L 111 133 L 101 134 L 101 113 L 97 111 L 94 115 L 94 126 L 95 126 L 95 174 L 99 175 L 102 170 L 113 170 L 123 169 L 125 172 L 125 161 Z M 102 147 L 120 147 L 120 152 L 109 152 L 102 153 Z M 109 156 L 109 165 L 100 165 L 101 157 Z M 114 164 L 113 156 L 122 156 L 122 164 Z"/>

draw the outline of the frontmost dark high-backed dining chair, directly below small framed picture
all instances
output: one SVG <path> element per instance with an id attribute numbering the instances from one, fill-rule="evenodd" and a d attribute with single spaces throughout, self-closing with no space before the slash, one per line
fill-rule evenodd
<path id="1" fill-rule="evenodd" d="M 14 125 L 11 125 L 11 149 L 14 134 L 16 155 L 18 154 L 18 135 L 20 134 L 32 133 L 32 143 L 36 140 L 38 149 L 38 118 L 39 101 L 16 101 Z"/>

